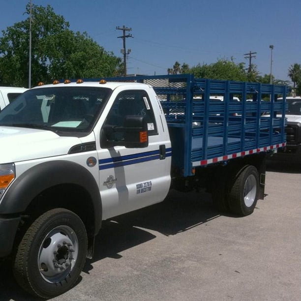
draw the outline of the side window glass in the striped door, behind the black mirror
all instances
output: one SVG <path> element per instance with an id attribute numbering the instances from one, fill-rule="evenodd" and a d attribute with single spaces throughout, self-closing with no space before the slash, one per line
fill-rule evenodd
<path id="1" fill-rule="evenodd" d="M 146 91 L 131 90 L 121 92 L 115 99 L 103 126 L 106 128 L 123 126 L 124 118 L 128 115 L 146 116 L 149 136 L 158 134 L 151 101 Z M 106 131 L 106 133 L 109 136 L 106 137 L 107 140 L 122 141 L 123 139 L 123 133 L 121 132 Z"/>

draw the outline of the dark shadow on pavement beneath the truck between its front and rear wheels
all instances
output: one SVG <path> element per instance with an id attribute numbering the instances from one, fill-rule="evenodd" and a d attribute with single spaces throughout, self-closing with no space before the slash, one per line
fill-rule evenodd
<path id="1" fill-rule="evenodd" d="M 120 258 L 121 251 L 154 239 L 148 230 L 176 235 L 218 216 L 209 194 L 171 191 L 162 203 L 104 221 L 95 238 L 94 257 L 87 263 L 105 257 Z M 86 268 L 88 272 L 91 267 Z"/>

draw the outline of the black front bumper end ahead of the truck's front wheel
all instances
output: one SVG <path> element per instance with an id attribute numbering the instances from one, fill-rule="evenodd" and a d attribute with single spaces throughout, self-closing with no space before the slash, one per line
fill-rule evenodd
<path id="1" fill-rule="evenodd" d="M 0 217 L 0 258 L 11 253 L 20 219 Z"/>

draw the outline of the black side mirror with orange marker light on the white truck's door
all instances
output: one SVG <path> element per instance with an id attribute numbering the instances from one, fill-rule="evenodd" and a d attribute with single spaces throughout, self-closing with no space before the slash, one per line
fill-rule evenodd
<path id="1" fill-rule="evenodd" d="M 145 116 L 127 115 L 123 126 L 106 125 L 100 134 L 102 147 L 124 146 L 128 149 L 149 146 L 148 124 Z"/>

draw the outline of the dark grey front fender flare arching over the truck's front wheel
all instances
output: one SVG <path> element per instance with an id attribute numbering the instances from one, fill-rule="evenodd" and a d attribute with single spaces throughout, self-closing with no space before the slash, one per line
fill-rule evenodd
<path id="1" fill-rule="evenodd" d="M 8 188 L 0 202 L 0 214 L 19 213 L 26 210 L 34 197 L 47 188 L 59 184 L 76 184 L 90 194 L 94 209 L 95 234 L 102 219 L 102 205 L 98 184 L 83 166 L 63 160 L 48 161 L 31 167 Z"/>

